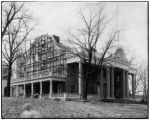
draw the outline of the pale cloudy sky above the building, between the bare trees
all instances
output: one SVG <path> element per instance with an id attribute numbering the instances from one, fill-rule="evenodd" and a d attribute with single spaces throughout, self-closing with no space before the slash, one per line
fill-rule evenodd
<path id="1" fill-rule="evenodd" d="M 68 32 L 80 25 L 79 9 L 86 9 L 93 2 L 26 2 L 25 7 L 32 12 L 38 23 L 34 39 L 42 34 L 58 35 L 63 43 Z M 114 18 L 118 5 L 118 28 L 121 29 L 119 46 L 125 49 L 130 58 L 132 54 L 137 63 L 147 62 L 148 32 L 146 2 L 105 2 L 106 14 Z"/>

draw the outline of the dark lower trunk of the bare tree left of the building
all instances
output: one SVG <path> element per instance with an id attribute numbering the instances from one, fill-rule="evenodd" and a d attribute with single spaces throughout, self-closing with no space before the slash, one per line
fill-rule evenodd
<path id="1" fill-rule="evenodd" d="M 10 97 L 10 81 L 11 81 L 11 69 L 12 69 L 12 64 L 9 64 L 8 66 L 8 79 L 7 79 L 7 90 L 6 90 L 6 96 Z"/>

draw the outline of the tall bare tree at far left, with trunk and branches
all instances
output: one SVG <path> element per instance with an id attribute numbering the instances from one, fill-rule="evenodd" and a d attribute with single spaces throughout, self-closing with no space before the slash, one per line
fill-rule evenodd
<path id="1" fill-rule="evenodd" d="M 16 59 L 23 54 L 23 42 L 26 41 L 34 25 L 30 24 L 31 14 L 24 9 L 24 3 L 6 2 L 3 3 L 2 14 L 2 57 L 8 65 L 8 80 L 6 96 L 10 96 L 10 82 L 12 66 Z"/>

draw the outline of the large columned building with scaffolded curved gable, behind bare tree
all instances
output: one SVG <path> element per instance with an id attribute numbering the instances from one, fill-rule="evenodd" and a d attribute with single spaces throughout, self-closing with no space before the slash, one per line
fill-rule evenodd
<path id="1" fill-rule="evenodd" d="M 86 65 L 60 43 L 59 37 L 42 35 L 30 45 L 26 57 L 17 60 L 19 71 L 11 80 L 11 96 L 53 98 L 71 93 L 80 96 L 83 90 L 82 73 Z M 104 60 L 102 72 L 90 76 L 88 94 L 101 98 L 129 98 L 129 75 L 132 76 L 134 97 L 135 69 L 126 59 L 122 48 Z M 97 77 L 98 76 L 98 77 Z"/>

